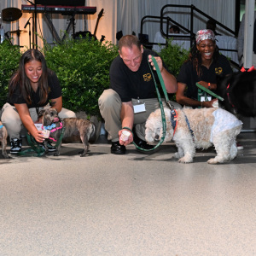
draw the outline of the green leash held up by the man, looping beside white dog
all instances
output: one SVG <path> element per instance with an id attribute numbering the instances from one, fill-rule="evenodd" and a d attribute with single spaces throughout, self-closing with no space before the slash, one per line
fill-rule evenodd
<path id="1" fill-rule="evenodd" d="M 166 91 L 166 86 L 165 86 L 165 83 L 164 83 L 164 79 L 162 78 L 162 75 L 160 73 L 160 68 L 158 67 L 158 64 L 157 64 L 157 61 L 155 60 L 154 56 L 152 56 L 152 61 L 154 63 L 154 67 L 155 67 L 155 70 L 156 70 L 156 73 L 158 75 L 158 78 L 160 79 L 160 84 L 161 84 L 161 87 L 162 87 L 162 90 L 164 92 L 164 95 L 165 95 L 165 98 L 166 98 L 166 104 L 171 108 L 173 109 L 173 106 L 168 98 L 168 95 L 167 95 L 167 91 Z M 152 71 L 152 68 L 150 66 L 150 63 L 148 61 L 148 66 L 149 66 L 149 69 L 152 73 L 152 77 L 154 79 L 154 73 Z M 151 149 L 145 149 L 145 148 L 141 148 L 139 147 L 135 142 L 132 142 L 136 148 L 142 150 L 142 151 L 152 151 L 154 150 L 155 148 L 158 148 L 160 146 L 161 143 L 164 142 L 165 140 L 165 137 L 166 137 L 166 114 L 165 114 L 165 111 L 164 111 L 164 107 L 163 107 L 163 102 L 161 101 L 161 97 L 160 97 L 160 92 L 158 90 L 158 87 L 157 87 L 157 84 L 156 84 L 156 81 L 154 79 L 154 85 L 155 85 L 155 90 L 156 90 L 156 93 L 157 93 L 157 97 L 158 97 L 158 101 L 160 103 L 160 110 L 161 110 L 161 117 L 162 117 L 162 125 L 163 125 L 163 135 L 162 137 L 160 138 L 160 142 L 157 143 L 154 148 L 151 148 Z M 128 131 L 131 131 L 131 129 L 129 127 L 123 127 L 122 129 L 126 129 Z M 132 134 L 132 137 L 133 137 L 133 132 L 131 131 L 131 134 Z"/>

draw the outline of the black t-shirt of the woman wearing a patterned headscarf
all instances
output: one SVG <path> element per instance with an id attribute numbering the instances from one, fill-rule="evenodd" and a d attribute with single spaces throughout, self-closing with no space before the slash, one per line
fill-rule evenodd
<path id="1" fill-rule="evenodd" d="M 206 81 L 207 83 L 216 84 L 217 75 L 227 75 L 232 73 L 230 67 L 230 61 L 224 56 L 219 55 L 217 62 L 212 62 L 210 68 L 201 66 L 202 75 L 197 76 L 193 64 L 191 61 L 183 63 L 180 68 L 180 72 L 177 75 L 177 82 L 187 84 L 186 96 L 197 101 L 197 86 L 195 85 L 199 81 Z"/>

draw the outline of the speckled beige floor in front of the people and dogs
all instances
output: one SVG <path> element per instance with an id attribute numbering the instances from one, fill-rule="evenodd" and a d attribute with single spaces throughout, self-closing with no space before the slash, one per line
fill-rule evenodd
<path id="1" fill-rule="evenodd" d="M 256 134 L 224 165 L 154 154 L 0 159 L 0 255 L 256 255 Z"/>

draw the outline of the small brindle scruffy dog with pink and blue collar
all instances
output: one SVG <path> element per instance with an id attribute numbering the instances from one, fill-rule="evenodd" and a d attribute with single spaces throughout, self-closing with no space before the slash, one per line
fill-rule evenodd
<path id="1" fill-rule="evenodd" d="M 44 127 L 48 127 L 48 130 L 51 130 L 49 134 L 50 141 L 58 141 L 64 129 L 62 137 L 63 139 L 75 135 L 80 135 L 81 141 L 84 143 L 84 150 L 79 152 L 79 154 L 81 154 L 80 156 L 85 156 L 85 154 L 87 154 L 89 149 L 89 142 L 96 136 L 96 125 L 93 122 L 90 122 L 86 119 L 77 118 L 60 119 L 55 108 L 41 110 L 38 114 L 38 118 L 40 118 L 42 115 Z M 53 129 L 49 129 L 50 126 L 53 126 Z M 45 139 L 44 141 L 46 152 L 48 152 L 47 141 L 48 139 Z M 60 152 L 61 142 L 58 144 L 54 155 L 60 155 Z"/>

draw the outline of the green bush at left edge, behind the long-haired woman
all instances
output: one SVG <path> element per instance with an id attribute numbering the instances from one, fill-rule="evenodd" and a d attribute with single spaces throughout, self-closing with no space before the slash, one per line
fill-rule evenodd
<path id="1" fill-rule="evenodd" d="M 19 67 L 20 47 L 4 40 L 0 44 L 0 108 L 7 100 L 9 79 Z"/>

